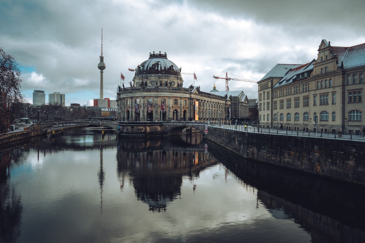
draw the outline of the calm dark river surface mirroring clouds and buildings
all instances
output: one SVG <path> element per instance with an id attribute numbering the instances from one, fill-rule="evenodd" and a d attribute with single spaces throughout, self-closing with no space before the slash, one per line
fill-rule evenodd
<path id="1" fill-rule="evenodd" d="M 80 129 L 0 150 L 0 242 L 365 242 L 365 189 L 201 136 Z"/>

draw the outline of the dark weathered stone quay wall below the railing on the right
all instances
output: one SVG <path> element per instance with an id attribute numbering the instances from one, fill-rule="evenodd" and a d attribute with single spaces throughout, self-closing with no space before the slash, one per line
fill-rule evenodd
<path id="1" fill-rule="evenodd" d="M 247 159 L 365 185 L 365 142 L 214 127 L 205 138 Z"/>

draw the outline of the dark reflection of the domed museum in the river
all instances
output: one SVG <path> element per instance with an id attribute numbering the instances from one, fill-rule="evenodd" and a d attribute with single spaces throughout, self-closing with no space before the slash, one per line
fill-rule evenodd
<path id="1" fill-rule="evenodd" d="M 150 211 L 166 211 L 181 195 L 183 176 L 190 180 L 217 161 L 205 153 L 200 134 L 188 138 L 120 140 L 117 152 L 118 180 L 123 190 L 129 179 L 138 200 Z M 193 190 L 196 186 L 193 184 Z"/>

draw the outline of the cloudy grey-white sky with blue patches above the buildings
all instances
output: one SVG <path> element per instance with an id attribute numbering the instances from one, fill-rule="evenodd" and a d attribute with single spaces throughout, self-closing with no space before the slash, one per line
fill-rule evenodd
<path id="1" fill-rule="evenodd" d="M 15 56 L 22 91 L 66 94 L 70 103 L 99 98 L 103 28 L 104 97 L 115 99 L 120 72 L 132 80 L 150 52 L 195 72 L 202 91 L 225 90 L 222 77 L 258 81 L 277 63 L 304 64 L 331 46 L 365 43 L 364 0 L 2 0 L 0 47 Z M 184 86 L 193 75 L 183 74 Z M 230 81 L 229 89 L 257 98 L 257 84 Z"/>

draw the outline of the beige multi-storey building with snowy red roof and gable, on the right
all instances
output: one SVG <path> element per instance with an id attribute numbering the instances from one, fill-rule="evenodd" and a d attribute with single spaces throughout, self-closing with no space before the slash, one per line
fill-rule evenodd
<path id="1" fill-rule="evenodd" d="M 260 126 L 360 135 L 364 72 L 365 44 L 336 47 L 322 40 L 316 59 L 277 64 L 258 82 Z"/>

